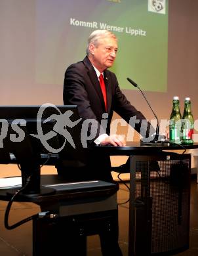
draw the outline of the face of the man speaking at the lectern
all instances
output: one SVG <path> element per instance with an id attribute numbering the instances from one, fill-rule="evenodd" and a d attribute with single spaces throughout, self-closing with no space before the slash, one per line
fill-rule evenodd
<path id="1" fill-rule="evenodd" d="M 117 53 L 117 40 L 113 37 L 100 39 L 97 47 L 90 45 L 91 62 L 100 71 L 113 65 Z"/>

